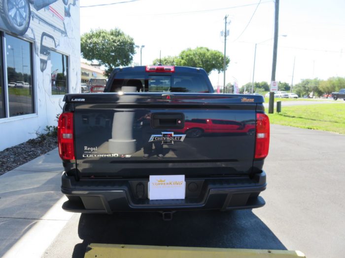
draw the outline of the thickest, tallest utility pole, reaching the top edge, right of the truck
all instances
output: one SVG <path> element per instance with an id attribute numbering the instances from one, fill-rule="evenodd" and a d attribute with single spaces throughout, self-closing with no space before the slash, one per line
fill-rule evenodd
<path id="1" fill-rule="evenodd" d="M 278 49 L 278 21 L 279 21 L 279 0 L 276 0 L 275 3 L 275 37 L 274 37 L 274 44 L 273 44 L 273 61 L 272 61 L 272 76 L 271 76 L 271 84 L 272 82 L 276 81 L 276 56 L 277 56 L 277 49 Z M 274 103 L 275 103 L 275 93 L 270 92 L 270 100 L 268 106 L 268 113 L 273 114 L 274 111 Z"/>

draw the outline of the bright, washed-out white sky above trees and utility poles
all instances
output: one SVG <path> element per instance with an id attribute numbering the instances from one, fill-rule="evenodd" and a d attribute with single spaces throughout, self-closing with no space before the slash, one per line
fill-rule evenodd
<path id="1" fill-rule="evenodd" d="M 80 0 L 80 6 L 130 0 Z M 280 0 L 276 81 L 345 77 L 345 1 Z M 132 0 L 80 8 L 80 33 L 118 28 L 142 49 L 142 65 L 177 56 L 187 48 L 208 47 L 224 53 L 224 17 L 228 15 L 226 55 L 231 61 L 226 84 L 253 80 L 270 83 L 275 2 L 273 0 Z M 283 36 L 286 35 L 286 36 Z M 295 65 L 294 65 L 295 60 Z M 140 50 L 133 62 L 140 63 Z M 293 75 L 293 77 L 292 77 Z M 209 75 L 223 85 L 223 73 Z"/>

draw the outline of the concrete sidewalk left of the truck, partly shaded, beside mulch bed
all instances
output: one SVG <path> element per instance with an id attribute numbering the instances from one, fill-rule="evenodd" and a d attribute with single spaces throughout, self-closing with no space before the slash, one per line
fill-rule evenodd
<path id="1" fill-rule="evenodd" d="M 41 257 L 66 225 L 62 172 L 56 148 L 0 176 L 0 257 Z"/>

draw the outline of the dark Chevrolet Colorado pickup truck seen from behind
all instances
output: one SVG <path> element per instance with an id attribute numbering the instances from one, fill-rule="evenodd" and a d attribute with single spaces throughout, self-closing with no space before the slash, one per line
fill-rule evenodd
<path id="1" fill-rule="evenodd" d="M 104 93 L 64 101 L 65 210 L 170 218 L 265 204 L 270 123 L 262 96 L 215 94 L 200 68 L 136 66 L 116 68 Z"/>

